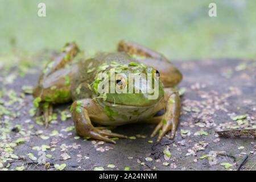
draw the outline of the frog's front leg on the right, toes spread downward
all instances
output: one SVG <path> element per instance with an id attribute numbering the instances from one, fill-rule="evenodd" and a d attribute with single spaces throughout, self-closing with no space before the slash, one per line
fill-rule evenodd
<path id="1" fill-rule="evenodd" d="M 171 139 L 175 137 L 175 131 L 177 127 L 177 123 L 179 122 L 180 117 L 180 97 L 179 93 L 175 89 L 167 88 L 164 89 L 165 92 L 165 113 L 162 117 L 159 118 L 159 123 L 155 127 L 155 130 L 151 134 L 150 137 L 154 137 L 160 130 L 157 141 L 159 142 L 163 136 L 171 130 Z"/>

